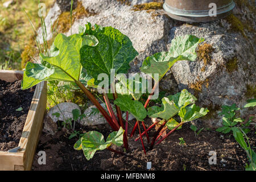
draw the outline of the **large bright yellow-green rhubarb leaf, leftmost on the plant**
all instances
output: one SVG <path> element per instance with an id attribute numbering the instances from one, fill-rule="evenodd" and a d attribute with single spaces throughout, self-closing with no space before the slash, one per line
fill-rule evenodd
<path id="1" fill-rule="evenodd" d="M 40 53 L 41 64 L 27 63 L 22 89 L 30 88 L 44 80 L 74 82 L 81 72 L 80 48 L 82 45 L 96 46 L 94 36 L 58 34 L 50 49 L 50 57 Z"/>

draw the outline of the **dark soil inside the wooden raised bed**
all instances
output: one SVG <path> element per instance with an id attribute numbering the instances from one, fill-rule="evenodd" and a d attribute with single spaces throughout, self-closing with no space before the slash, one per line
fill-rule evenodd
<path id="1" fill-rule="evenodd" d="M 22 90 L 21 80 L 0 80 L 0 151 L 18 147 L 34 90 Z M 19 107 L 23 110 L 16 111 Z"/>

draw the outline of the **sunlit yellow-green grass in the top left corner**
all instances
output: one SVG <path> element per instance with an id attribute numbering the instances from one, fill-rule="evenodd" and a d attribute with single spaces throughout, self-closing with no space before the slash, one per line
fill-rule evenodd
<path id="1" fill-rule="evenodd" d="M 29 18 L 37 28 L 41 24 L 38 16 L 38 1 L 16 0 L 8 8 L 2 6 L 6 0 L 0 0 L 0 69 L 21 69 L 21 54 L 24 47 L 34 36 Z M 47 11 L 54 0 L 46 3 Z"/>

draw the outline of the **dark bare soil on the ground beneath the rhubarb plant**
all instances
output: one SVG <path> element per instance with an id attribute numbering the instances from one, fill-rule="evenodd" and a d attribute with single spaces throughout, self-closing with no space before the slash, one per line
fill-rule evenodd
<path id="1" fill-rule="evenodd" d="M 151 125 L 146 119 L 146 125 Z M 78 125 L 77 125 L 78 126 Z M 140 140 L 129 139 L 130 151 L 126 156 L 115 154 L 109 150 L 97 151 L 93 159 L 85 159 L 82 151 L 73 149 L 78 138 L 68 139 L 66 129 L 57 131 L 55 135 L 42 133 L 36 154 L 46 152 L 46 165 L 39 165 L 40 156 L 35 155 L 33 170 L 146 170 L 146 163 L 152 162 L 151 170 L 244 170 L 248 162 L 245 151 L 230 134 L 222 135 L 216 131 L 203 130 L 199 137 L 189 129 L 190 124 L 183 125 L 166 140 L 144 155 Z M 77 127 L 77 129 L 79 129 Z M 106 138 L 111 132 L 108 126 L 81 127 L 80 131 L 97 130 Z M 153 134 L 153 130 L 150 136 Z M 248 137 L 251 146 L 255 146 L 255 129 L 251 128 Z M 136 134 L 138 135 L 138 134 Z M 137 136 L 136 136 L 137 137 Z M 183 137 L 185 145 L 179 144 Z M 145 146 L 148 146 L 144 137 Z M 112 146 L 115 150 L 120 150 Z M 216 151 L 217 164 L 210 165 L 209 152 Z"/>

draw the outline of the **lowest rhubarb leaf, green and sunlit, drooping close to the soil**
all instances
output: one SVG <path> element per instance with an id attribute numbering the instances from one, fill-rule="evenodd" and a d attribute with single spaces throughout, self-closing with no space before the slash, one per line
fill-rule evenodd
<path id="1" fill-rule="evenodd" d="M 121 146 L 123 144 L 123 133 L 125 131 L 120 127 L 118 131 L 109 134 L 105 142 L 104 136 L 98 131 L 89 131 L 85 133 L 74 145 L 75 150 L 83 150 L 85 158 L 90 160 L 97 150 L 104 150 L 105 148 L 115 144 Z"/>

